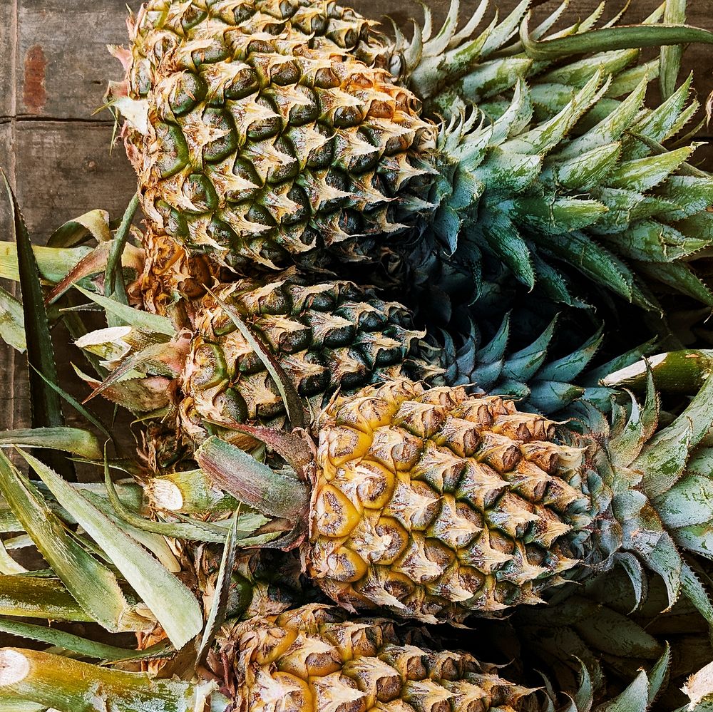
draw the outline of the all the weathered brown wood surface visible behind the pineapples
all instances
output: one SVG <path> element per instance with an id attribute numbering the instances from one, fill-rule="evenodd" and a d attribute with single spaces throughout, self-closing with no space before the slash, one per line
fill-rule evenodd
<path id="1" fill-rule="evenodd" d="M 128 3 L 134 10 L 139 2 Z M 502 12 L 515 0 L 493 1 Z M 622 3 L 611 0 L 609 16 Z M 637 21 L 652 12 L 657 0 L 633 0 L 627 17 Z M 401 26 L 419 6 L 401 0 L 355 0 L 369 16 L 391 14 Z M 463 3 L 463 14 L 475 0 Z M 568 22 L 585 16 L 598 0 L 572 0 Z M 436 21 L 446 0 L 431 0 Z M 556 2 L 539 11 L 552 10 Z M 606 15 L 605 15 L 606 16 Z M 103 103 L 109 79 L 119 79 L 119 63 L 106 45 L 125 41 L 124 0 L 0 0 L 0 165 L 23 206 L 33 239 L 43 242 L 54 227 L 95 207 L 120 212 L 134 190 L 133 172 L 123 150 L 110 153 L 113 119 Z M 689 2 L 689 23 L 713 29 L 713 2 Z M 690 48 L 684 68 L 695 68 L 701 98 L 713 91 L 713 47 Z M 707 135 L 704 131 L 702 136 Z M 713 168 L 712 160 L 707 164 Z M 0 199 L 0 233 L 8 234 L 8 211 Z M 4 238 L 3 238 L 4 239 Z M 62 354 L 68 363 L 71 354 Z M 28 422 L 24 358 L 0 346 L 0 428 Z"/>

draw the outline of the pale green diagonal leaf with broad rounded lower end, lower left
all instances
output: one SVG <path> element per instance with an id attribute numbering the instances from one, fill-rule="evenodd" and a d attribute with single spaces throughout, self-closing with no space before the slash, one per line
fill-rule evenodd
<path id="1" fill-rule="evenodd" d="M 56 500 L 106 552 L 135 592 L 180 649 L 202 629 L 200 606 L 193 594 L 173 574 L 131 537 L 118 529 L 81 493 L 64 482 L 39 460 L 19 450 L 30 467 L 49 487 Z M 91 579 L 90 579 L 91 580 Z M 170 609 L 165 602 L 172 603 Z"/>

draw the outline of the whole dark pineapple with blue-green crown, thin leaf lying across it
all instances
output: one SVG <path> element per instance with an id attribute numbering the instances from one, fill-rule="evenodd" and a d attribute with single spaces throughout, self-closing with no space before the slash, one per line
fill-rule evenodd
<path id="1" fill-rule="evenodd" d="M 217 284 L 212 294 L 183 306 L 190 306 L 192 315 L 179 322 L 186 328 L 168 343 L 128 326 L 76 341 L 102 356 L 111 370 L 103 383 L 88 378 L 94 393 L 143 418 L 163 420 L 150 439 L 168 456 L 161 455 L 164 462 L 175 458 L 180 441 L 190 449 L 210 433 L 227 437 L 238 423 L 282 428 L 289 408 L 274 368 L 300 398 L 292 425 L 312 423 L 337 392 L 399 376 L 436 385 L 475 384 L 481 392 L 496 389 L 548 414 L 583 395 L 606 407 L 612 393 L 597 385 L 598 371 L 582 375 L 601 334 L 563 358 L 548 358 L 555 321 L 530 344 L 509 351 L 507 317 L 488 343 L 471 324 L 466 343 L 456 349 L 446 331 L 426 336 L 414 328 L 404 306 L 380 299 L 373 289 L 336 280 L 314 284 L 294 271 L 268 284 L 256 278 Z M 168 319 L 165 323 L 163 331 L 170 332 Z M 625 356 L 615 366 L 638 356 Z M 140 388 L 145 396 L 137 403 Z M 294 412 L 303 410 L 304 417 Z M 168 438 L 167 446 L 161 438 Z"/>

